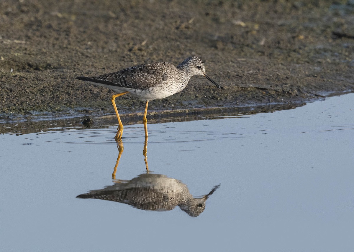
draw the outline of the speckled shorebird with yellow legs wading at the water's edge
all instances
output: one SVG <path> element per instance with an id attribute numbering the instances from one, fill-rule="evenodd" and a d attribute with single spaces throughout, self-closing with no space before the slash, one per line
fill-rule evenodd
<path id="1" fill-rule="evenodd" d="M 143 124 L 145 137 L 147 137 L 146 113 L 149 101 L 162 99 L 182 91 L 187 86 L 190 77 L 194 75 L 202 75 L 218 88 L 221 88 L 221 86 L 207 76 L 203 61 L 195 56 L 185 59 L 177 67 L 168 62 L 153 62 L 129 67 L 118 72 L 93 77 L 82 76 L 76 79 L 104 86 L 118 93 L 112 96 L 111 101 L 119 123 L 115 139 L 121 139 L 123 124 L 118 114 L 115 98 L 130 93 L 133 96 L 146 100 Z"/>

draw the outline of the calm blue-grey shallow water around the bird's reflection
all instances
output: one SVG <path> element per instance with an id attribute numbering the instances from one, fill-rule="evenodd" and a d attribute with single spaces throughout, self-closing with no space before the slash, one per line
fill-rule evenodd
<path id="1" fill-rule="evenodd" d="M 0 136 L 1 251 L 351 251 L 354 94 L 292 110 L 148 124 L 149 170 L 205 211 L 78 199 L 113 185 L 116 126 Z M 145 173 L 142 125 L 124 128 L 116 178 Z M 121 150 L 121 149 L 120 149 Z"/>

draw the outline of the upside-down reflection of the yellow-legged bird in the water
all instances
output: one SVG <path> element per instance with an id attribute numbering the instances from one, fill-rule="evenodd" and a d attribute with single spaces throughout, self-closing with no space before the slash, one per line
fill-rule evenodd
<path id="1" fill-rule="evenodd" d="M 162 174 L 149 173 L 147 138 L 145 138 L 143 150 L 146 174 L 138 175 L 131 180 L 115 179 L 123 149 L 123 143 L 118 142 L 119 154 L 112 174 L 115 184 L 101 190 L 80 194 L 76 198 L 110 200 L 125 203 L 137 209 L 152 211 L 169 211 L 179 206 L 189 216 L 196 217 L 204 211 L 205 202 L 209 196 L 220 187 L 220 185 L 214 186 L 208 194 L 201 198 L 194 198 L 182 181 Z"/>

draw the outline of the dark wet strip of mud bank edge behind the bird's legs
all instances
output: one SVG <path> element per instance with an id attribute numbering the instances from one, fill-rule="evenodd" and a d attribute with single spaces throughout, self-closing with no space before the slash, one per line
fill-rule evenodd
<path id="1" fill-rule="evenodd" d="M 291 104 L 263 104 L 258 106 L 244 107 L 215 107 L 215 108 L 194 108 L 163 110 L 159 112 L 148 112 L 148 123 L 184 122 L 194 120 L 223 119 L 231 116 L 252 115 L 257 113 L 268 113 L 276 110 L 293 109 L 304 106 L 306 103 Z M 124 125 L 143 124 L 143 112 L 126 113 L 120 115 Z M 0 124 L 0 133 L 28 134 L 36 132 L 56 131 L 58 128 L 72 130 L 78 128 L 107 128 L 111 125 L 118 125 L 116 115 L 105 115 L 95 117 L 76 117 L 56 120 L 26 120 L 21 122 L 3 122 Z"/>

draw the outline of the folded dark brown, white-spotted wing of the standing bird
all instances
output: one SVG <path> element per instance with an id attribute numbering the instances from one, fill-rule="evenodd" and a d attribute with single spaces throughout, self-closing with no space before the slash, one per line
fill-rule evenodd
<path id="1" fill-rule="evenodd" d="M 155 62 L 129 67 L 114 73 L 77 79 L 124 88 L 146 89 L 167 80 L 173 68 L 176 67 L 170 63 Z"/>

